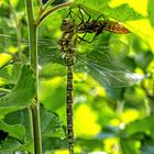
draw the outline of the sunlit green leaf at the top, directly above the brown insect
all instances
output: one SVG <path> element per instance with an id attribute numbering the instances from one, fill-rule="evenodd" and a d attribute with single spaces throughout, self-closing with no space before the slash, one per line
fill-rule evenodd
<path id="1" fill-rule="evenodd" d="M 101 13 L 121 22 L 143 19 L 143 16 L 130 8 L 128 3 L 123 3 L 117 8 L 111 8 L 109 7 L 109 2 L 110 0 L 105 0 L 103 2 L 101 0 L 76 0 L 75 4 L 80 4 L 90 15 L 98 12 L 98 15 Z"/>

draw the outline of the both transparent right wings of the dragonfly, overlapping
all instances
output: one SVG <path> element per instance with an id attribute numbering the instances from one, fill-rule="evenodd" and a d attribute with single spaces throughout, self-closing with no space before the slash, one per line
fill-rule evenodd
<path id="1" fill-rule="evenodd" d="M 77 54 L 77 61 L 87 66 L 82 68 L 105 87 L 119 88 L 136 84 L 141 77 L 131 73 L 129 66 L 124 66 L 128 46 L 121 42 L 107 43 L 97 44 L 95 47 L 89 45 L 88 52 L 81 48 L 85 52 Z"/>

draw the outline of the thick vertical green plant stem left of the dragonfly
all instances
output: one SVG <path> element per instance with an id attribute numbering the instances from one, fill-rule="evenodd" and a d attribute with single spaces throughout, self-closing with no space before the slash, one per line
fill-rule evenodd
<path id="1" fill-rule="evenodd" d="M 33 139 L 34 139 L 34 153 L 42 154 L 42 139 L 41 139 L 41 122 L 40 122 L 40 102 L 38 102 L 38 70 L 37 70 L 37 28 L 34 24 L 33 3 L 32 0 L 25 0 L 28 21 L 29 21 L 29 42 L 31 66 L 35 72 L 36 78 L 36 95 L 31 107 L 32 121 L 33 121 Z"/>

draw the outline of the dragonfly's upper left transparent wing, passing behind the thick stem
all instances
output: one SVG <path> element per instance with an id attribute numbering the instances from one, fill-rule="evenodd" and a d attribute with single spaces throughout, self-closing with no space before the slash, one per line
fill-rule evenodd
<path id="1" fill-rule="evenodd" d="M 56 56 L 58 46 L 54 38 L 38 38 L 37 48 L 40 64 L 47 63 L 51 59 L 55 61 L 53 56 Z M 29 41 L 26 38 L 19 40 L 13 35 L 0 34 L 0 54 L 10 55 L 12 59 L 14 57 L 19 59 L 19 55 L 21 54 L 29 61 Z"/>

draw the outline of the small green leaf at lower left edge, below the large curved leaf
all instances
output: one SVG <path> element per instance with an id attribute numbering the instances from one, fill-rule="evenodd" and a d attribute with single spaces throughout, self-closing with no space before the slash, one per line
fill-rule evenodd
<path id="1" fill-rule="evenodd" d="M 24 127 L 21 124 L 9 125 L 1 120 L 0 130 L 8 132 L 10 136 L 13 136 L 20 141 L 23 141 L 23 139 L 24 139 L 25 130 L 24 130 Z"/>

